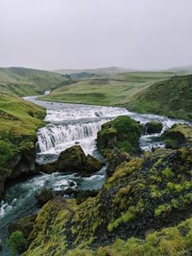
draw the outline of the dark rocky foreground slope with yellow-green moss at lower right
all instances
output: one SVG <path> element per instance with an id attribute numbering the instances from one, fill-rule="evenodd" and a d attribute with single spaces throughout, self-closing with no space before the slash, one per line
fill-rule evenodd
<path id="1" fill-rule="evenodd" d="M 114 150 L 118 149 L 111 148 L 111 154 Z M 132 236 L 136 237 L 132 244 L 130 239 L 126 242 L 129 255 L 141 255 L 136 244 L 144 253 L 154 255 L 190 252 L 185 237 L 191 232 L 191 150 L 187 144 L 178 149 L 157 149 L 139 158 L 122 150 L 122 162 L 114 165 L 115 171 L 99 194 L 79 204 L 57 195 L 44 205 L 28 236 L 24 255 L 108 255 L 109 251 L 116 252 L 117 239 L 121 239 L 119 250 L 123 251 L 125 241 Z M 166 227 L 171 228 L 164 231 Z M 179 235 L 172 236 L 177 230 Z M 167 236 L 166 244 L 157 242 Z M 139 239 L 146 240 L 141 244 Z M 153 244 L 148 247 L 150 241 Z"/>

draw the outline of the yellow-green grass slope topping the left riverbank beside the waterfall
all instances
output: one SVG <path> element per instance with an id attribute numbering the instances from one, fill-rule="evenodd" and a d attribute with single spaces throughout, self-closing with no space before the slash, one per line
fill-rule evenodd
<path id="1" fill-rule="evenodd" d="M 38 128 L 44 125 L 44 116 L 44 108 L 26 102 L 18 96 L 1 94 L 0 167 L 8 164 L 15 154 L 32 147 Z"/>

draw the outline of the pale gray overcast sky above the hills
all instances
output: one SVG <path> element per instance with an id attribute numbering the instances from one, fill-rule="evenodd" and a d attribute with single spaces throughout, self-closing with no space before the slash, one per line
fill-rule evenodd
<path id="1" fill-rule="evenodd" d="M 192 64 L 192 0 L 0 0 L 0 67 Z"/>

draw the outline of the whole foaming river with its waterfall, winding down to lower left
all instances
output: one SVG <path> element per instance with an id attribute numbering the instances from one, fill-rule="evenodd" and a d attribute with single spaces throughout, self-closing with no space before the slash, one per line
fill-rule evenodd
<path id="1" fill-rule="evenodd" d="M 128 115 L 142 125 L 151 120 L 159 121 L 164 127 L 163 131 L 175 123 L 182 122 L 165 116 L 131 113 L 125 108 L 41 102 L 36 98 L 37 96 L 31 96 L 25 99 L 47 109 L 45 122 L 48 124 L 38 131 L 37 162 L 40 164 L 56 160 L 62 150 L 75 144 L 79 144 L 85 154 L 100 158 L 101 155 L 96 150 L 96 133 L 101 129 L 102 124 L 119 115 Z M 160 134 L 153 134 L 143 135 L 140 138 L 140 147 L 150 151 L 152 148 L 163 148 L 165 145 L 160 141 Z M 3 243 L 6 241 L 10 222 L 39 211 L 34 195 L 41 189 L 63 190 L 72 184 L 76 189 L 100 189 L 105 180 L 106 166 L 91 177 L 79 177 L 74 173 L 55 172 L 50 175 L 40 173 L 10 183 L 4 200 L 0 203 L 0 239 Z M 8 248 L 0 252 L 0 255 L 8 256 Z"/>

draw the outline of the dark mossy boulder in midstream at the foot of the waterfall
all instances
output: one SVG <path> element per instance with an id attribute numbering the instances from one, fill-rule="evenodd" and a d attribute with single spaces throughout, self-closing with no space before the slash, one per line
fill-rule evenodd
<path id="1" fill-rule="evenodd" d="M 88 177 L 102 168 L 102 163 L 95 157 L 84 154 L 80 146 L 73 146 L 62 151 L 57 161 L 58 172 L 79 172 Z"/>

